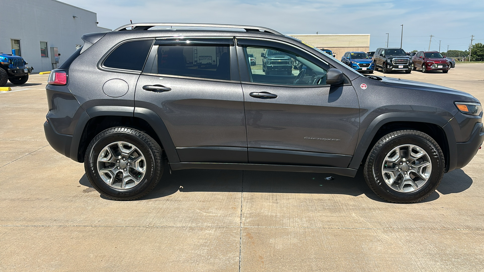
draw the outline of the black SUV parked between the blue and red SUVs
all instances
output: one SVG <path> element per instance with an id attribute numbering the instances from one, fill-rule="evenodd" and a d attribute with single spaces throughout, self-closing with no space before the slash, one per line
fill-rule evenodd
<path id="1" fill-rule="evenodd" d="M 402 48 L 378 48 L 373 55 L 375 71 L 381 68 L 383 74 L 392 71 L 412 72 L 411 58 L 407 56 Z"/>

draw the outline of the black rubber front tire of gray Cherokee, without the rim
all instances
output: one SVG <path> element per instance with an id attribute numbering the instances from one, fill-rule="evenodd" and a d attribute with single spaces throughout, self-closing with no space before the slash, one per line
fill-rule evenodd
<path id="1" fill-rule="evenodd" d="M 427 152 L 431 162 L 431 172 L 422 187 L 412 192 L 403 193 L 392 189 L 384 181 L 381 168 L 383 167 L 384 157 L 388 152 L 395 147 L 406 144 L 417 145 Z M 389 133 L 378 140 L 366 158 L 363 174 L 368 186 L 384 200 L 393 203 L 414 203 L 423 200 L 435 191 L 442 180 L 444 169 L 444 154 L 432 137 L 416 130 L 400 130 Z"/>

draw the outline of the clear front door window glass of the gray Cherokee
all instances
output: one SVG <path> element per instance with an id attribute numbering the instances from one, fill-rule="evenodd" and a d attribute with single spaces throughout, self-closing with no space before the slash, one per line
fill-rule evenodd
<path id="1" fill-rule="evenodd" d="M 262 57 L 262 65 L 247 65 L 252 82 L 279 85 L 326 84 L 327 69 L 294 52 L 262 46 L 247 46 L 243 49 L 245 56 L 253 54 Z"/>

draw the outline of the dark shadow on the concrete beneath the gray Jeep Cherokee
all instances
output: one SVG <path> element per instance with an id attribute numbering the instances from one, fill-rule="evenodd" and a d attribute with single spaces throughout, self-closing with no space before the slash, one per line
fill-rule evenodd
<path id="1" fill-rule="evenodd" d="M 160 183 L 150 194 L 138 200 L 160 198 L 177 192 L 244 192 L 349 196 L 364 194 L 372 200 L 385 202 L 368 187 L 361 169 L 355 178 L 321 173 L 209 169 L 178 170 L 170 174 L 165 169 Z M 86 175 L 82 176 L 79 184 L 92 188 Z M 460 193 L 471 184 L 472 179 L 464 171 L 454 170 L 444 175 L 437 191 L 443 195 Z M 434 192 L 422 202 L 438 199 L 439 193 Z"/>

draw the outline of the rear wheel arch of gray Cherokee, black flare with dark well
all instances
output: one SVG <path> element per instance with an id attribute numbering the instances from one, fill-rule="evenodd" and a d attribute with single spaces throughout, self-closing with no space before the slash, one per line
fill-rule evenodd
<path id="1" fill-rule="evenodd" d="M 81 114 L 74 131 L 71 159 L 84 162 L 91 140 L 105 129 L 125 126 L 146 132 L 165 150 L 170 162 L 180 162 L 163 120 L 153 111 L 131 106 L 93 106 Z"/>

